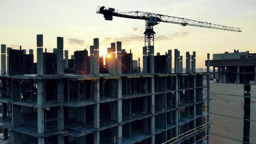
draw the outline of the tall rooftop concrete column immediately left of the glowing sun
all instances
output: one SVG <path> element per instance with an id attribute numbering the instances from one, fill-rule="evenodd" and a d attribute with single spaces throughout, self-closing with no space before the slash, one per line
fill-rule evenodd
<path id="1" fill-rule="evenodd" d="M 99 41 L 98 38 L 93 39 L 93 49 L 94 49 L 94 56 L 93 56 L 93 66 L 94 66 L 94 74 L 99 74 Z"/>

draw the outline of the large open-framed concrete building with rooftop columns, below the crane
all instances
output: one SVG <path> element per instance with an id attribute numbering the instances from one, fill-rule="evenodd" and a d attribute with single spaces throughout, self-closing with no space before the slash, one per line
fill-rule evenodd
<path id="1" fill-rule="evenodd" d="M 154 56 L 154 47 L 148 53 L 144 49 L 141 73 L 132 70 L 132 53 L 121 42 L 111 43 L 105 65 L 98 51 L 95 38 L 89 58 L 85 50 L 74 52 L 72 61 L 65 52 L 64 59 L 63 38 L 58 37 L 57 49 L 44 55 L 43 35 L 37 35 L 34 72 L 6 72 L 2 60 L 4 139 L 11 134 L 14 144 L 209 144 L 210 55 L 207 73 L 196 73 L 196 52 L 187 52 L 182 72 L 182 56 L 175 49 L 172 72 L 171 50 Z M 5 59 L 5 45 L 1 53 Z M 13 62 L 7 59 L 7 65 Z"/>

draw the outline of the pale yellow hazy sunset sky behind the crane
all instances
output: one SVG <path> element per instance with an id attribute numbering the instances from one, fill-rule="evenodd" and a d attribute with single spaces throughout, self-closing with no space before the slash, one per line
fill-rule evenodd
<path id="1" fill-rule="evenodd" d="M 44 48 L 52 52 L 56 48 L 56 37 L 62 36 L 64 49 L 69 50 L 70 56 L 75 50 L 89 49 L 93 38 L 97 37 L 100 54 L 106 52 L 110 43 L 122 41 L 122 48 L 131 49 L 133 59 L 142 59 L 144 20 L 113 17 L 112 21 L 106 21 L 103 15 L 96 13 L 98 6 L 160 13 L 242 29 L 242 33 L 237 33 L 169 23 L 154 26 L 155 54 L 179 49 L 185 57 L 186 51 L 196 51 L 197 67 L 204 67 L 207 52 L 211 59 L 213 53 L 233 52 L 233 49 L 256 52 L 255 0 L 1 1 L 0 44 L 36 49 L 36 34 L 43 34 Z"/>

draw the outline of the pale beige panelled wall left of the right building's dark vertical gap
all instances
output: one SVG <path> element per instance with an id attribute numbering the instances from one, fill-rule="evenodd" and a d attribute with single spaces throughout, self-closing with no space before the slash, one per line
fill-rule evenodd
<path id="1" fill-rule="evenodd" d="M 242 144 L 243 95 L 244 85 L 210 83 L 212 144 Z"/>

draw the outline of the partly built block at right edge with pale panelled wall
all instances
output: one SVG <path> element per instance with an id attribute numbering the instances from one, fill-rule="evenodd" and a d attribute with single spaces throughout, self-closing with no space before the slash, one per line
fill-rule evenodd
<path id="1" fill-rule="evenodd" d="M 213 144 L 256 144 L 256 54 L 213 54 L 210 83 Z"/>

